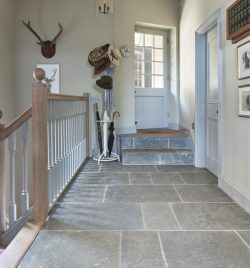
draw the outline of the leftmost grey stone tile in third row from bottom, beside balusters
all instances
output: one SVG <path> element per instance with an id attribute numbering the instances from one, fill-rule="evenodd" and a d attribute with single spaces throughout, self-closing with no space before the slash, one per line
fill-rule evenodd
<path id="1" fill-rule="evenodd" d="M 74 183 L 59 202 L 102 202 L 105 189 L 106 186 L 79 186 Z"/>

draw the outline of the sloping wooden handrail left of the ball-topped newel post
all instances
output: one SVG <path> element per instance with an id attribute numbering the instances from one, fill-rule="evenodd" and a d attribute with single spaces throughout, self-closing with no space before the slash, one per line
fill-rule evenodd
<path id="1" fill-rule="evenodd" d="M 11 133 L 16 131 L 24 122 L 32 117 L 32 107 L 28 108 L 24 113 L 17 117 L 9 126 L 0 130 L 0 141 L 5 140 Z"/>

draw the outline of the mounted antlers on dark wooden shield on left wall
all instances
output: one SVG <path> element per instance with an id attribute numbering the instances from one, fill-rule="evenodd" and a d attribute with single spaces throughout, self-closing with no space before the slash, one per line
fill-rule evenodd
<path id="1" fill-rule="evenodd" d="M 60 23 L 58 23 L 59 32 L 54 37 L 54 39 L 52 41 L 49 41 L 49 40 L 43 41 L 42 38 L 36 33 L 36 31 L 30 26 L 30 21 L 28 21 L 28 23 L 25 23 L 24 21 L 22 21 L 22 23 L 39 40 L 39 42 L 37 42 L 37 44 L 41 46 L 41 51 L 42 51 L 43 56 L 45 58 L 47 58 L 47 59 L 52 58 L 55 55 L 55 53 L 56 53 L 56 41 L 57 41 L 57 39 L 59 38 L 59 36 L 61 35 L 61 33 L 63 31 L 62 25 Z"/>

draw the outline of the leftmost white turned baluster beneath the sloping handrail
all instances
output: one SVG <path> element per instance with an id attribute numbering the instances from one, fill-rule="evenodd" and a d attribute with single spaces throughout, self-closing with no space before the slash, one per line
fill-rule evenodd
<path id="1" fill-rule="evenodd" d="M 13 132 L 8 139 L 8 150 L 10 156 L 10 203 L 9 203 L 9 224 L 13 224 L 16 219 L 16 174 L 15 174 L 15 154 L 16 154 L 16 132 Z"/>

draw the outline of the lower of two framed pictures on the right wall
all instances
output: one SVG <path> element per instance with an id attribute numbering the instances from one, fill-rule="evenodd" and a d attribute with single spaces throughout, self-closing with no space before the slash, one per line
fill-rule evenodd
<path id="1" fill-rule="evenodd" d="M 239 87 L 239 116 L 250 117 L 250 85 Z"/>

